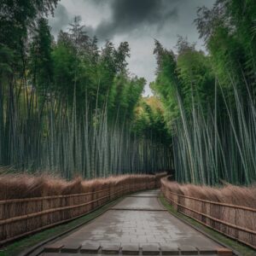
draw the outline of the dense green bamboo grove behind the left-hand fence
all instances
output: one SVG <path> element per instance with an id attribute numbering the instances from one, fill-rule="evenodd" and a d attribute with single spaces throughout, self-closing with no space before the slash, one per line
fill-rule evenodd
<path id="1" fill-rule="evenodd" d="M 1 3 L 0 165 L 66 178 L 170 169 L 163 111 L 129 74 L 129 44 L 99 49 L 79 17 L 55 41 L 56 3 Z"/>

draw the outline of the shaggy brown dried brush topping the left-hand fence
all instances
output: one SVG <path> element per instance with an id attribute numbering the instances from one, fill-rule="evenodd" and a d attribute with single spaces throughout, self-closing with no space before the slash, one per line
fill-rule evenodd
<path id="1" fill-rule="evenodd" d="M 163 174 L 160 174 L 157 177 L 162 176 Z M 150 181 L 153 182 L 155 178 L 154 175 L 121 175 L 92 180 L 83 180 L 82 177 L 76 177 L 72 181 L 66 181 L 61 177 L 48 174 L 2 174 L 0 175 L 0 200 L 82 194 L 123 185 L 129 183 L 131 179 L 137 181 L 139 179 L 142 182 L 148 181 L 149 183 Z"/>

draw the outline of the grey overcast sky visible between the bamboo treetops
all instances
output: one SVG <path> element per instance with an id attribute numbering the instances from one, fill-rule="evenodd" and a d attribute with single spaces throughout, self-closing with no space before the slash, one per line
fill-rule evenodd
<path id="1" fill-rule="evenodd" d="M 99 44 L 110 39 L 118 46 L 127 41 L 131 47 L 131 73 L 154 80 L 156 61 L 153 55 L 154 38 L 168 49 L 174 49 L 177 35 L 188 37 L 203 49 L 203 43 L 193 24 L 199 6 L 211 7 L 215 0 L 61 0 L 55 16 L 49 18 L 56 36 L 67 30 L 75 15 L 90 36 L 96 35 Z M 151 95 L 146 85 L 144 96 Z"/>

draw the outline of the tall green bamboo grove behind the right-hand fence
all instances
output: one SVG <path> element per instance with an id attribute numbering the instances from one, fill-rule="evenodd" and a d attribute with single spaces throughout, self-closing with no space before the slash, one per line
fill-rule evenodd
<path id="1" fill-rule="evenodd" d="M 255 20 L 255 1 L 218 0 L 195 20 L 207 55 L 186 38 L 175 54 L 155 42 L 151 87 L 165 105 L 179 182 L 255 182 Z"/>

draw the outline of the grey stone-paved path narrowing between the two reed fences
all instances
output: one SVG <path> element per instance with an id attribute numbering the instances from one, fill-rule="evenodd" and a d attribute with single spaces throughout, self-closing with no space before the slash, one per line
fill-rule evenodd
<path id="1" fill-rule="evenodd" d="M 159 190 L 130 195 L 55 243 L 42 256 L 130 254 L 217 255 L 220 247 L 163 208 Z"/>

